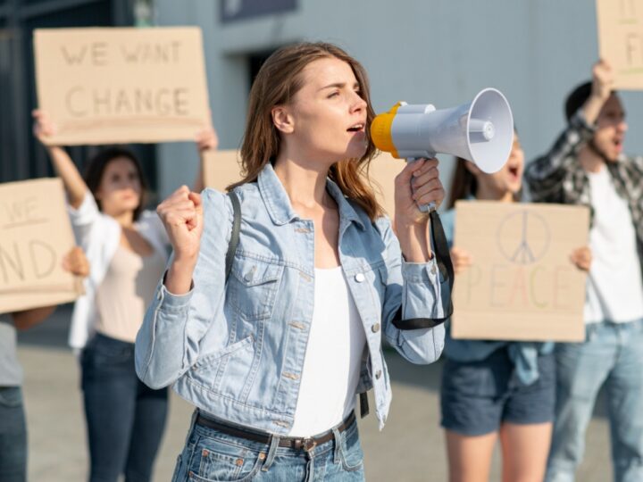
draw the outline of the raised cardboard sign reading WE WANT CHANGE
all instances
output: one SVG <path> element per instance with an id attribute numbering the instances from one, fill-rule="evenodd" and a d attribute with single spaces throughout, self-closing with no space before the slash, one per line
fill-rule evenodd
<path id="1" fill-rule="evenodd" d="M 194 140 L 210 125 L 201 30 L 37 29 L 53 145 Z"/>

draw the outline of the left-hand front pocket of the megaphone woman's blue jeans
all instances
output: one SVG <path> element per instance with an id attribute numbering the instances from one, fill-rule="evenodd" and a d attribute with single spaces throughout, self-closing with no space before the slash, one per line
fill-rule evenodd
<path id="1" fill-rule="evenodd" d="M 190 463 L 188 480 L 246 482 L 261 469 L 264 453 L 215 437 L 201 437 Z"/>

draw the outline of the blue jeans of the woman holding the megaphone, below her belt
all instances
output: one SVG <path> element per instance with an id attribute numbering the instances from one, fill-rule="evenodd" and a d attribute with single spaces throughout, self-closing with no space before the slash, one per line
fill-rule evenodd
<path id="1" fill-rule="evenodd" d="M 303 449 L 280 447 L 230 436 L 193 422 L 172 482 L 257 481 L 333 482 L 363 481 L 363 452 L 354 421 L 344 432 L 333 429 L 329 442 Z"/>

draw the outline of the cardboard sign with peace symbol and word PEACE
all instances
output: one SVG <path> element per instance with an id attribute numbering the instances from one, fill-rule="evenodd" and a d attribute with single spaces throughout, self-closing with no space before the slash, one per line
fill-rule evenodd
<path id="1" fill-rule="evenodd" d="M 455 209 L 454 245 L 472 266 L 455 277 L 453 337 L 584 340 L 586 273 L 569 257 L 588 245 L 589 209 L 483 201 Z"/>

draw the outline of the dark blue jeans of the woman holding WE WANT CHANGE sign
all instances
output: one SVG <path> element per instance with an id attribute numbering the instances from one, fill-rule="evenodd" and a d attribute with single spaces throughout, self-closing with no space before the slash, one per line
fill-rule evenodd
<path id="1" fill-rule="evenodd" d="M 82 353 L 90 482 L 152 478 L 168 410 L 167 389 L 138 380 L 134 344 L 96 335 Z"/>

